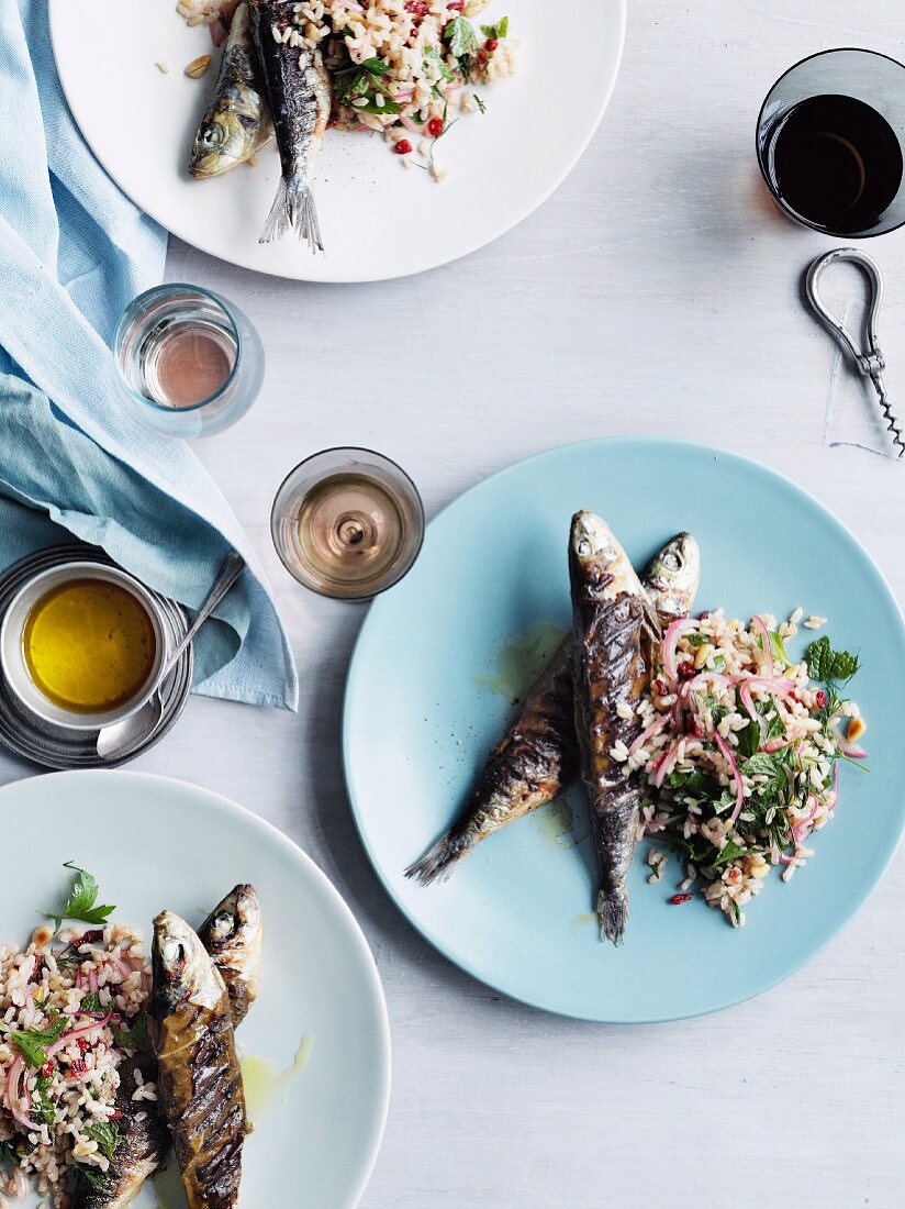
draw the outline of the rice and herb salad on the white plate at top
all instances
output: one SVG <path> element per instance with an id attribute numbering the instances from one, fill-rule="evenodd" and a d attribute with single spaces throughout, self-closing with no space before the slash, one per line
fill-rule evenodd
<path id="1" fill-rule="evenodd" d="M 289 4 L 290 0 L 286 0 Z M 383 134 L 406 167 L 446 170 L 436 140 L 464 114 L 486 109 L 477 91 L 516 69 L 509 18 L 474 23 L 489 0 L 301 0 L 274 37 L 319 47 L 333 81 L 333 125 Z M 226 39 L 236 0 L 181 0 L 190 25 Z"/>

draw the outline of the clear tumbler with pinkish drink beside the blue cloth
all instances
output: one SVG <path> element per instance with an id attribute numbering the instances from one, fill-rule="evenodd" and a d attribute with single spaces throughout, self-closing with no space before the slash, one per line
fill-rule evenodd
<path id="1" fill-rule="evenodd" d="M 251 323 L 199 285 L 168 283 L 129 303 L 114 337 L 123 398 L 152 428 L 210 436 L 257 398 L 263 347 Z"/>

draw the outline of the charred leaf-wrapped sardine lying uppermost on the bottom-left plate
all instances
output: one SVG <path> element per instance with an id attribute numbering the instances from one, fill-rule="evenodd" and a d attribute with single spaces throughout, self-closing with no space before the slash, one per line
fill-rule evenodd
<path id="1" fill-rule="evenodd" d="M 248 1133 L 230 996 L 197 935 L 172 912 L 153 921 L 149 1032 L 157 1095 L 190 1209 L 232 1209 Z"/>

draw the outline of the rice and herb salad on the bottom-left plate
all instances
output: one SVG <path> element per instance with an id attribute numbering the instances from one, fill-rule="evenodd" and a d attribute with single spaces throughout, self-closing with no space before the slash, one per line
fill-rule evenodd
<path id="1" fill-rule="evenodd" d="M 36 1190 L 65 1209 L 77 1164 L 109 1168 L 118 1068 L 135 1053 L 149 987 L 141 938 L 118 924 L 41 925 L 24 949 L 0 945 L 0 1203 Z M 137 1098 L 156 1100 L 155 1084 Z"/>

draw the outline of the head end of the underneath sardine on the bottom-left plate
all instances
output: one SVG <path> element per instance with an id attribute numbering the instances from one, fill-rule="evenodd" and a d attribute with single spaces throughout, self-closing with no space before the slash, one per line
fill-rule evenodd
<path id="1" fill-rule="evenodd" d="M 226 983 L 236 1029 L 257 997 L 262 926 L 255 887 L 244 883 L 231 890 L 198 929 L 198 938 Z"/>

